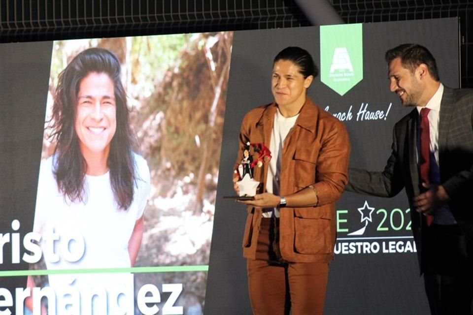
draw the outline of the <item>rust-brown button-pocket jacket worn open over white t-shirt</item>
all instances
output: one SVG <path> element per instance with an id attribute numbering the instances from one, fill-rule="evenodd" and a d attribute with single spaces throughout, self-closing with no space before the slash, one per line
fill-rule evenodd
<path id="1" fill-rule="evenodd" d="M 249 111 L 239 134 L 235 169 L 242 158 L 246 142 L 264 143 L 270 147 L 276 104 Z M 280 209 L 279 249 L 290 262 L 328 262 L 334 258 L 337 238 L 335 202 L 348 181 L 350 142 L 343 123 L 306 98 L 296 124 L 284 140 L 280 193 L 288 195 L 308 186 L 315 189 L 317 205 Z M 277 157 L 273 157 L 277 158 Z M 268 173 L 266 162 L 255 167 L 253 177 L 265 191 Z M 248 206 L 243 237 L 243 255 L 254 259 L 262 209 Z"/>

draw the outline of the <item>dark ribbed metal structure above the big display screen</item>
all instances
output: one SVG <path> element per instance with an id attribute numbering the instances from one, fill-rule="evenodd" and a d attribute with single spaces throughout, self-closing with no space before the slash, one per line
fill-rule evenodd
<path id="1" fill-rule="evenodd" d="M 345 23 L 459 17 L 461 82 L 473 87 L 469 0 L 0 0 L 0 42 L 303 27 L 323 1 Z"/>

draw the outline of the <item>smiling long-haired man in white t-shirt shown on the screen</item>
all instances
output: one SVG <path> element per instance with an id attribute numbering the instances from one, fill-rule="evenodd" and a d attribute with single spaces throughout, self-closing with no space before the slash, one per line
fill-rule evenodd
<path id="1" fill-rule="evenodd" d="M 50 124 L 56 147 L 41 163 L 34 216 L 48 270 L 126 268 L 135 263 L 150 175 L 146 161 L 136 153 L 120 72 L 113 53 L 91 48 L 59 75 Z M 50 274 L 48 283 L 56 291 L 77 288 L 80 313 L 89 309 L 105 314 L 114 294 L 133 287 L 130 276 Z M 31 277 L 28 286 L 35 286 Z M 83 293 L 98 298 L 87 300 Z M 70 302 L 57 298 L 48 311 L 61 314 Z M 112 304 L 123 306 L 116 299 Z"/>

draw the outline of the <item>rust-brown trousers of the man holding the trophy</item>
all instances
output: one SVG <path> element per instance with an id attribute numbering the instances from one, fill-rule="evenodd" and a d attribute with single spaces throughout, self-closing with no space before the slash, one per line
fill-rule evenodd
<path id="1" fill-rule="evenodd" d="M 277 233 L 274 224 L 277 226 L 278 223 L 278 219 L 262 219 L 256 259 L 247 259 L 253 313 L 287 315 L 292 309 L 293 315 L 321 315 L 329 264 L 281 263 L 273 250 L 274 234 Z"/>

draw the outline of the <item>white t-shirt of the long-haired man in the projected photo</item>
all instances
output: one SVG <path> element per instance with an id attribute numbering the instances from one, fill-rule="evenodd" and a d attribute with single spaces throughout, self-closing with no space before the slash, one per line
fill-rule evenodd
<path id="1" fill-rule="evenodd" d="M 53 174 L 54 156 L 41 162 L 34 214 L 34 232 L 41 234 L 41 249 L 48 270 L 130 267 L 128 243 L 135 222 L 143 215 L 150 190 L 150 174 L 146 160 L 136 154 L 136 183 L 129 209 L 118 209 L 110 185 L 109 172 L 85 176 L 85 200 L 66 201 L 58 190 Z M 54 250 L 53 250 L 54 249 Z M 129 273 L 50 274 L 49 286 L 58 299 L 68 286 L 81 293 L 81 307 L 90 307 L 86 292 L 105 289 L 108 299 L 122 290 L 133 294 L 133 276 Z M 128 290 L 128 291 L 126 291 Z M 113 291 L 113 292 L 112 292 Z M 116 300 L 115 300 L 116 301 Z M 93 313 L 100 313 L 99 310 Z M 109 312 L 111 309 L 108 308 Z"/>

